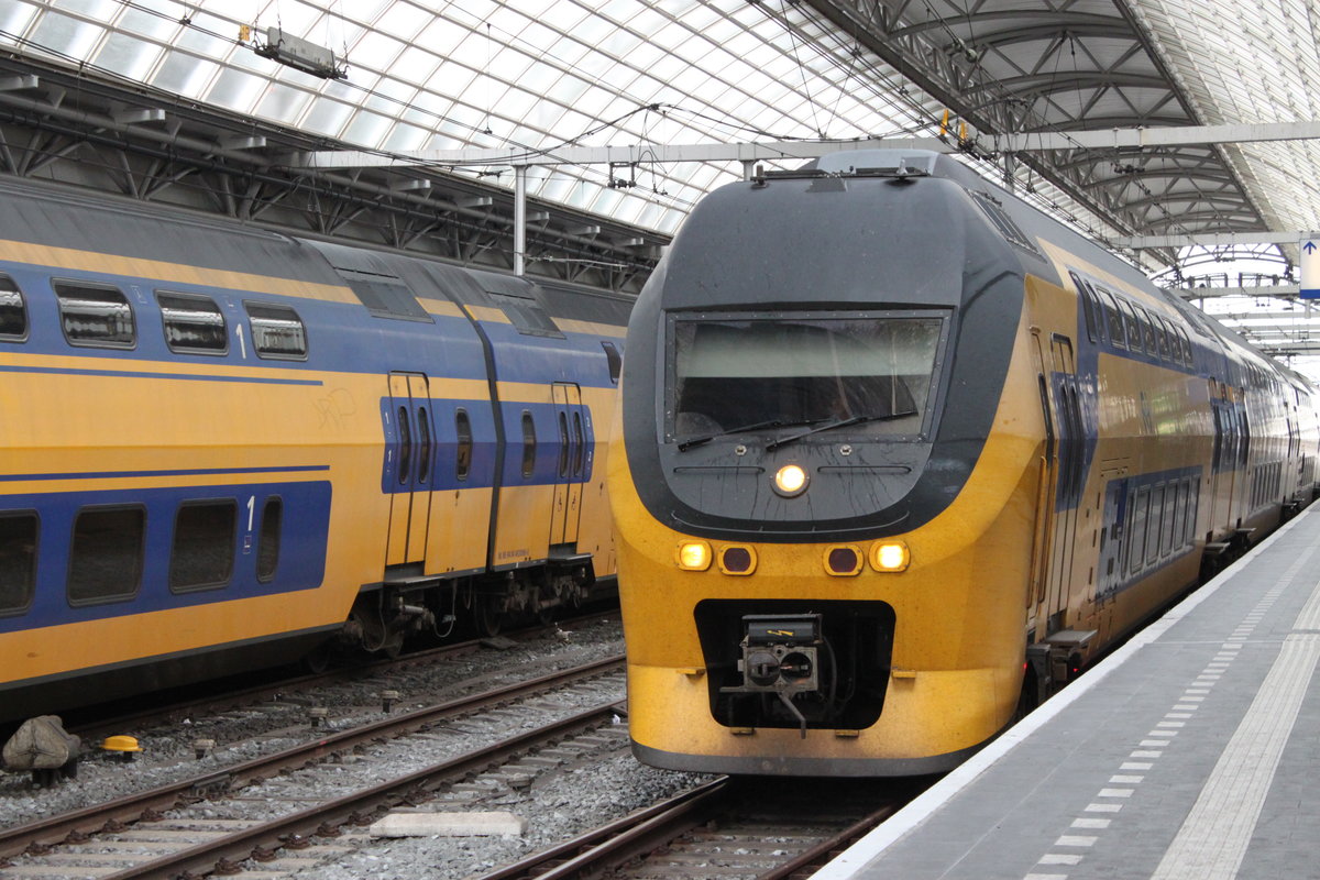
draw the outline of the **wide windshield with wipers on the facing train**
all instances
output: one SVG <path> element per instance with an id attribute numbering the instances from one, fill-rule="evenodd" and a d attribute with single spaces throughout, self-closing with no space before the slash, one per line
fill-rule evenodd
<path id="1" fill-rule="evenodd" d="M 671 332 L 671 439 L 680 443 L 845 420 L 840 431 L 849 437 L 917 435 L 944 318 L 675 318 Z"/>

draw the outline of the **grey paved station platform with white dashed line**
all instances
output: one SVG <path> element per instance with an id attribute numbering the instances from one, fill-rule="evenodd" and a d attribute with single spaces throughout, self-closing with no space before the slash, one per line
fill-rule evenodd
<path id="1" fill-rule="evenodd" d="M 1320 877 L 1320 504 L 816 880 Z"/>

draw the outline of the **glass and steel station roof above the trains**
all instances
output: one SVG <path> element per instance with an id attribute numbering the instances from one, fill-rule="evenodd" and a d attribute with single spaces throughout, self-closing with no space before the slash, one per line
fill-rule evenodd
<path id="1" fill-rule="evenodd" d="M 268 28 L 326 47 L 346 77 L 257 54 Z M 1270 293 L 1295 289 L 1296 248 L 1258 239 L 1320 228 L 1320 145 L 993 148 L 1003 133 L 1317 119 L 1305 0 L 8 0 L 0 42 L 389 153 L 941 128 L 952 141 L 966 123 L 966 161 L 1082 231 L 1122 244 L 1175 236 L 1130 251 L 1172 286 L 1220 293 L 1239 280 L 1217 260 L 1261 257 L 1275 284 L 1229 307 L 1274 315 L 1254 318 L 1262 347 L 1309 350 L 1309 311 Z M 741 173 L 561 165 L 537 169 L 529 194 L 667 235 Z M 511 183 L 496 166 L 457 174 Z M 1209 232 L 1226 243 L 1176 244 Z"/>

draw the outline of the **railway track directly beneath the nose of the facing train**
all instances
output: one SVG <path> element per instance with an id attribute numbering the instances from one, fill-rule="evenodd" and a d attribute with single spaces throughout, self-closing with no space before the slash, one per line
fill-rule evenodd
<path id="1" fill-rule="evenodd" d="M 480 880 L 805 877 L 921 786 L 719 777 Z"/>

